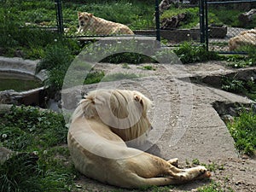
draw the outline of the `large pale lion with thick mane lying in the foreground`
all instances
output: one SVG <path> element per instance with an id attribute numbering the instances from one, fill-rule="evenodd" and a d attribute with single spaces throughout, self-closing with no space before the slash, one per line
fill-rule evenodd
<path id="1" fill-rule="evenodd" d="M 94 90 L 79 102 L 67 143 L 74 165 L 85 176 L 122 188 L 186 183 L 210 177 L 204 166 L 179 169 L 125 142 L 142 144 L 151 124 L 151 101 L 131 90 Z M 119 128 L 119 129 L 118 129 Z"/>

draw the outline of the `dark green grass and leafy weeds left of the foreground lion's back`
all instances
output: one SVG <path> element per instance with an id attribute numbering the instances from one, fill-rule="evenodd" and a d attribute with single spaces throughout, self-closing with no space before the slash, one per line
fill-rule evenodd
<path id="1" fill-rule="evenodd" d="M 68 161 L 67 126 L 58 113 L 12 107 L 0 113 L 0 146 L 18 151 L 0 164 L 1 191 L 70 191 L 78 176 Z"/>

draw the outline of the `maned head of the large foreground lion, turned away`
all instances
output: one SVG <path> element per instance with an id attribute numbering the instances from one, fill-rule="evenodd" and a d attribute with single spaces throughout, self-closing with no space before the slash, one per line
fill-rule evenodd
<path id="1" fill-rule="evenodd" d="M 108 125 L 125 142 L 137 139 L 135 143 L 139 145 L 145 142 L 151 130 L 147 117 L 151 104 L 135 90 L 93 90 L 79 102 L 73 120 L 96 119 Z"/>

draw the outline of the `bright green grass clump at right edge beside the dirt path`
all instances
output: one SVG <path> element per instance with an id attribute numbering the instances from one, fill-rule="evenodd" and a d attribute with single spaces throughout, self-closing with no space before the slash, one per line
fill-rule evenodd
<path id="1" fill-rule="evenodd" d="M 256 151 L 256 114 L 253 111 L 243 111 L 228 129 L 235 140 L 235 146 L 241 153 L 254 155 Z"/>

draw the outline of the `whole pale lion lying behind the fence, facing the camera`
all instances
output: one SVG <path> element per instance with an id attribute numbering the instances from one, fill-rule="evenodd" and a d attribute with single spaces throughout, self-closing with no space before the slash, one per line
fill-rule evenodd
<path id="1" fill-rule="evenodd" d="M 89 32 L 90 34 L 95 35 L 134 34 L 128 26 L 109 20 L 104 20 L 90 13 L 79 12 L 78 16 L 79 33 Z"/>

